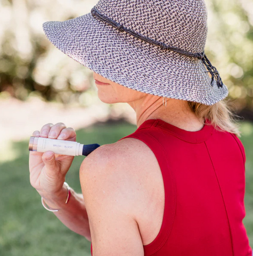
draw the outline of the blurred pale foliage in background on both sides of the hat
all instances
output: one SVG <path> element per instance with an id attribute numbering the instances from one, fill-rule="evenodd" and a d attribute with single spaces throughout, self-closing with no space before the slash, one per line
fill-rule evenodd
<path id="1" fill-rule="evenodd" d="M 48 41 L 42 23 L 91 11 L 97 0 L 1 0 L 0 95 L 62 104 L 99 103 L 93 72 Z M 206 0 L 206 53 L 234 100 L 236 113 L 253 110 L 253 1 Z M 247 114 L 245 114 L 247 113 Z"/>

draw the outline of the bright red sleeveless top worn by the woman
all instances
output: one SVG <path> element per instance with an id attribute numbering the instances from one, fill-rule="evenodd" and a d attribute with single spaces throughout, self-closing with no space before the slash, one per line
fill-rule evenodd
<path id="1" fill-rule="evenodd" d="M 235 134 L 208 119 L 196 132 L 149 119 L 124 138 L 150 147 L 164 180 L 164 217 L 145 256 L 252 255 L 242 222 L 246 155 Z"/>

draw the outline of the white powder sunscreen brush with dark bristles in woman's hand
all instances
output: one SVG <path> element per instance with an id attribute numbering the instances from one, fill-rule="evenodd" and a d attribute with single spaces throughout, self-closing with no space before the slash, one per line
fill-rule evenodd
<path id="1" fill-rule="evenodd" d="M 34 136 L 31 136 L 29 140 L 29 151 L 44 153 L 50 150 L 54 154 L 67 156 L 87 156 L 98 147 L 100 147 L 99 144 L 84 145 L 76 141 L 55 140 Z"/>

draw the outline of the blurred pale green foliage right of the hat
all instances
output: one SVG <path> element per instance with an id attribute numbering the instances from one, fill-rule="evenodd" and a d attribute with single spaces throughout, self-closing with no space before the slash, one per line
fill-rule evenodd
<path id="1" fill-rule="evenodd" d="M 239 112 L 253 110 L 253 1 L 212 0 L 207 49 Z M 253 119 L 253 114 L 251 114 Z"/>

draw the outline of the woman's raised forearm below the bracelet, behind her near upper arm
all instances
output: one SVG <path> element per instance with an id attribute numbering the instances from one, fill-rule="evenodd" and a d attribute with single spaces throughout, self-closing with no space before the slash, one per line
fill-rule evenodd
<path id="1" fill-rule="evenodd" d="M 83 194 L 77 194 L 70 188 L 71 196 L 66 204 L 67 188 L 63 186 L 61 193 L 50 201 L 44 199 L 44 202 L 51 209 L 59 209 L 53 212 L 55 216 L 69 229 L 75 233 L 84 236 L 91 242 L 91 231 L 89 230 L 89 221 L 84 204 Z M 45 210 L 46 211 L 46 210 Z"/>

